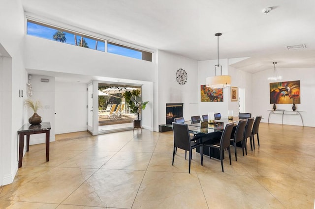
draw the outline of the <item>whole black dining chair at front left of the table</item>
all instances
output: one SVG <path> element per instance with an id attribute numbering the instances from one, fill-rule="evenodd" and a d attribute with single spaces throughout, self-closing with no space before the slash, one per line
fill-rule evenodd
<path id="1" fill-rule="evenodd" d="M 173 135 L 174 135 L 174 149 L 173 149 L 173 161 L 172 165 L 174 165 L 175 152 L 177 148 L 185 150 L 185 159 L 186 152 L 189 151 L 189 173 L 190 173 L 190 161 L 192 158 L 192 149 L 200 147 L 200 160 L 201 165 L 203 165 L 203 144 L 199 142 L 191 141 L 188 125 L 181 123 L 172 123 L 173 126 Z"/>

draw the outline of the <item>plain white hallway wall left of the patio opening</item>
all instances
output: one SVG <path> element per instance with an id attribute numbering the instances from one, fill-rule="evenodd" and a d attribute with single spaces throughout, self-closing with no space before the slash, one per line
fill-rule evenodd
<path id="1" fill-rule="evenodd" d="M 55 82 L 55 134 L 87 130 L 87 84 Z"/>

